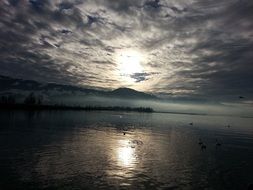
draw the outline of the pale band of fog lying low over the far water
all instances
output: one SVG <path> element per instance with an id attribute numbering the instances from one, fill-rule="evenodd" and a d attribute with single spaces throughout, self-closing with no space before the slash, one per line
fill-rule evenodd
<path id="1" fill-rule="evenodd" d="M 57 104 L 75 106 L 150 107 L 156 112 L 253 117 L 253 106 L 244 103 L 231 104 L 225 102 L 172 101 L 165 99 L 130 100 L 99 96 L 63 96 L 61 98 L 52 98 L 52 101 Z"/>

